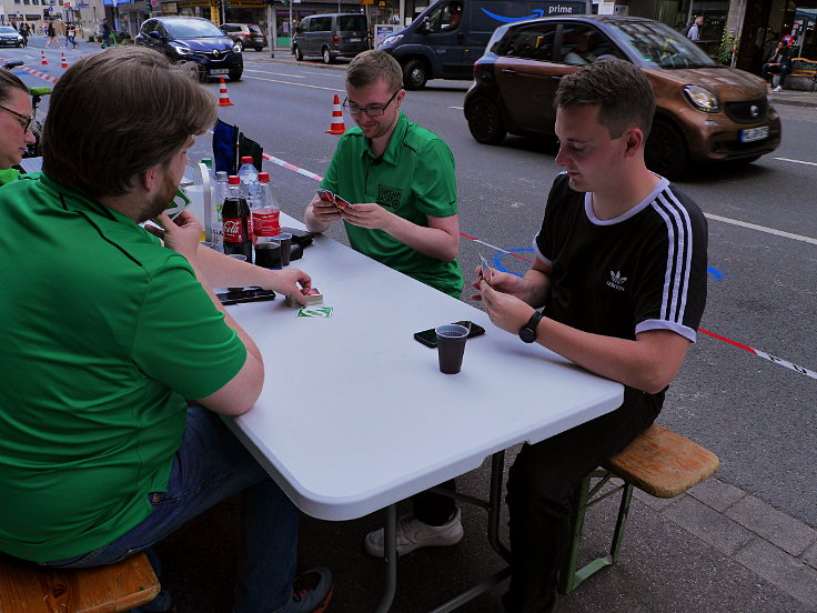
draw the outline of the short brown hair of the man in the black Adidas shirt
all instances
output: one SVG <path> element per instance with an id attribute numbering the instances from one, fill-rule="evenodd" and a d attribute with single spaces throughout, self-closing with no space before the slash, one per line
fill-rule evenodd
<path id="1" fill-rule="evenodd" d="M 563 78 L 553 104 L 557 109 L 598 104 L 598 121 L 614 139 L 633 125 L 646 139 L 655 113 L 655 96 L 644 72 L 617 59 L 593 62 Z"/>

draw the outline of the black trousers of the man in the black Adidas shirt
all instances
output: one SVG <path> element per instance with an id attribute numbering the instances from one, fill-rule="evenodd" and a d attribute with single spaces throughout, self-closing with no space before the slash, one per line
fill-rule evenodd
<path id="1" fill-rule="evenodd" d="M 548 613 L 571 542 L 571 503 L 582 480 L 647 429 L 664 394 L 626 389 L 624 404 L 606 415 L 536 444 L 525 444 L 508 474 L 512 613 Z"/>

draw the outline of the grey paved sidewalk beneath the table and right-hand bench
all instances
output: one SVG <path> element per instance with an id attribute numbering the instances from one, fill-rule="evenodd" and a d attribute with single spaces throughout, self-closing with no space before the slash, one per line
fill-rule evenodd
<path id="1" fill-rule="evenodd" d="M 506 465 L 511 463 L 508 453 Z M 490 465 L 457 479 L 461 492 L 484 496 Z M 583 556 L 606 553 L 617 496 L 587 513 Z M 401 512 L 407 508 L 401 506 Z M 162 585 L 178 613 L 230 611 L 236 557 L 238 501 L 229 501 L 162 542 Z M 400 561 L 393 613 L 438 606 L 501 570 L 485 539 L 485 512 L 463 505 L 465 537 L 452 547 L 421 550 Z M 369 613 L 383 590 L 384 565 L 366 555 L 363 537 L 381 513 L 350 522 L 304 517 L 299 565 L 325 565 L 335 592 L 330 613 Z M 505 519 L 502 522 L 506 540 Z M 502 583 L 457 613 L 500 613 Z M 561 596 L 557 613 L 815 613 L 817 531 L 761 498 L 712 478 L 673 500 L 636 492 L 619 561 Z"/>

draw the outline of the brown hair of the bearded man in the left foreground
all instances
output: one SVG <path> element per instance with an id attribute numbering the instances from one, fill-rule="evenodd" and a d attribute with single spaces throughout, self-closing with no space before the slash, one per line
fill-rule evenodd
<path id="1" fill-rule="evenodd" d="M 194 66 L 172 66 L 151 49 L 85 56 L 51 96 L 43 172 L 93 198 L 127 193 L 139 173 L 215 123 L 215 99 L 196 81 Z"/>

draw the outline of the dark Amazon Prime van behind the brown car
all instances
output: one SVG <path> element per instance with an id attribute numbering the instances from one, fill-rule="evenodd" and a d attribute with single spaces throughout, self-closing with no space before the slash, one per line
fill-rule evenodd
<path id="1" fill-rule="evenodd" d="M 536 17 L 589 14 L 591 0 L 438 0 L 380 49 L 403 67 L 403 87 L 422 89 L 428 79 L 471 79 L 491 34 L 500 26 Z"/>

